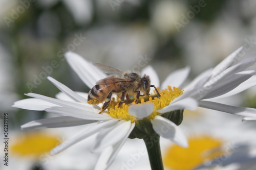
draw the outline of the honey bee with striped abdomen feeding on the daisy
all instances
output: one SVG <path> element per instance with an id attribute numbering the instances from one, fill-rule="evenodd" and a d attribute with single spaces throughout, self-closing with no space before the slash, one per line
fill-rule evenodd
<path id="1" fill-rule="evenodd" d="M 158 98 L 160 96 L 155 85 L 151 85 L 150 77 L 147 75 L 141 77 L 136 71 L 123 72 L 100 63 L 93 63 L 93 65 L 105 73 L 111 74 L 109 77 L 97 81 L 88 94 L 88 104 L 97 105 L 104 102 L 99 113 L 108 108 L 113 93 L 120 98 L 119 107 L 125 97 L 129 100 L 129 95 L 134 95 L 135 103 L 138 102 L 140 96 L 150 95 L 150 87 L 155 88 Z"/>

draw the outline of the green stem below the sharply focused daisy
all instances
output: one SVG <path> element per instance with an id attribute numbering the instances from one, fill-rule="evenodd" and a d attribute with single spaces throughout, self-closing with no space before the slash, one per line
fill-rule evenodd
<path id="1" fill-rule="evenodd" d="M 148 135 L 143 138 L 152 170 L 163 170 L 159 139 L 158 134 Z"/>

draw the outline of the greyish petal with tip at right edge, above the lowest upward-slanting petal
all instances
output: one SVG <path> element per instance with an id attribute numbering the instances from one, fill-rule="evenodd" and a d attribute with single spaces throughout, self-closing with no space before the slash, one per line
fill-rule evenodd
<path id="1" fill-rule="evenodd" d="M 215 98 L 216 96 L 225 94 L 233 90 L 234 88 L 238 87 L 241 83 L 251 78 L 255 74 L 255 72 L 255 70 L 248 70 L 230 75 L 229 77 L 222 80 L 209 90 L 205 88 L 205 93 L 207 94 L 202 99 Z"/>

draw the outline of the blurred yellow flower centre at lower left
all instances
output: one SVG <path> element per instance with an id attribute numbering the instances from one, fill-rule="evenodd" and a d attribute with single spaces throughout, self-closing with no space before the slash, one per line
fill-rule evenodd
<path id="1" fill-rule="evenodd" d="M 40 155 L 50 152 L 58 144 L 60 142 L 56 136 L 31 132 L 20 135 L 18 141 L 10 146 L 10 152 L 19 156 L 39 158 Z"/>

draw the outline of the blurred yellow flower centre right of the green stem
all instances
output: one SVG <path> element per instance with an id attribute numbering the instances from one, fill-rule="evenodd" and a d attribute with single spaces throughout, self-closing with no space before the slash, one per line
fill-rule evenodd
<path id="1" fill-rule="evenodd" d="M 172 145 L 163 158 L 163 164 L 172 170 L 189 170 L 204 163 L 204 161 L 223 155 L 221 146 L 223 142 L 209 137 L 201 136 L 188 139 L 188 148 Z"/>

